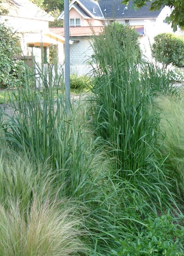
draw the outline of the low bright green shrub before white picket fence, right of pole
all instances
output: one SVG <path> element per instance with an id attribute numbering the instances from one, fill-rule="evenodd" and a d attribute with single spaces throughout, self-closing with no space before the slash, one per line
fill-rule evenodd
<path id="1" fill-rule="evenodd" d="M 87 75 L 70 75 L 70 88 L 72 90 L 89 90 L 92 86 L 92 80 Z"/>

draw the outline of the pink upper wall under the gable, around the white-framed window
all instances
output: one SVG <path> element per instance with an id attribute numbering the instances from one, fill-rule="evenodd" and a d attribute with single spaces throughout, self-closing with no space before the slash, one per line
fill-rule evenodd
<path id="1" fill-rule="evenodd" d="M 94 19 L 94 18 L 90 18 L 90 19 L 84 19 L 80 13 L 78 13 L 78 11 L 76 11 L 74 8 L 70 9 L 69 11 L 69 18 L 80 18 L 81 19 L 81 27 L 89 27 L 89 25 L 92 26 L 103 26 L 103 22 L 98 20 L 98 19 Z M 64 26 L 64 24 L 63 24 Z"/>

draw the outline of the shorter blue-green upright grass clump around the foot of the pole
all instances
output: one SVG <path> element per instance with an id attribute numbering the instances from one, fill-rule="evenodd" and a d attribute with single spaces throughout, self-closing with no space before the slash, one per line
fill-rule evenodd
<path id="1" fill-rule="evenodd" d="M 74 102 L 67 116 L 64 96 L 55 94 L 57 89 L 47 75 L 42 82 L 42 89 L 35 88 L 34 76 L 27 74 L 25 85 L 13 89 L 11 114 L 1 112 L 1 138 L 16 152 L 50 166 L 58 186 L 77 194 L 93 159 L 92 138 L 84 135 L 85 110 Z"/>

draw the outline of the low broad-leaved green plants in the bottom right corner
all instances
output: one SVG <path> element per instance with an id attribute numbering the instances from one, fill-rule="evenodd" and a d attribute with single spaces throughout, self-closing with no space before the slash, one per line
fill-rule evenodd
<path id="1" fill-rule="evenodd" d="M 128 236 L 122 241 L 119 256 L 182 256 L 184 253 L 183 221 L 176 222 L 170 214 L 155 219 L 145 219 L 137 236 Z M 181 220 L 179 220 L 181 221 Z"/>

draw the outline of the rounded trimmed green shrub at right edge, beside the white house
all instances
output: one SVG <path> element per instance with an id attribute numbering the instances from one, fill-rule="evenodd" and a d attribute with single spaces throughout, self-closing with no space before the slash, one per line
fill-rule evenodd
<path id="1" fill-rule="evenodd" d="M 166 66 L 170 63 L 184 66 L 184 40 L 172 33 L 162 33 L 154 37 L 152 56 Z"/>

